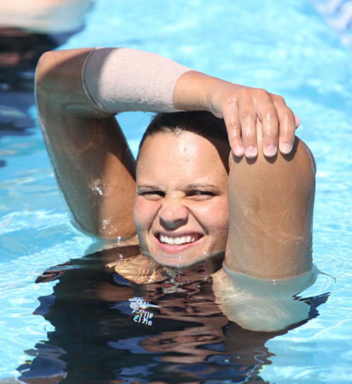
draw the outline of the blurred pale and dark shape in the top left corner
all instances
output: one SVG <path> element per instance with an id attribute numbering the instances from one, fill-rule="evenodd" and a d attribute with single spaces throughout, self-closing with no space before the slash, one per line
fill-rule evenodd
<path id="1" fill-rule="evenodd" d="M 0 136 L 34 125 L 27 109 L 38 59 L 80 31 L 90 7 L 88 0 L 1 1 Z"/>

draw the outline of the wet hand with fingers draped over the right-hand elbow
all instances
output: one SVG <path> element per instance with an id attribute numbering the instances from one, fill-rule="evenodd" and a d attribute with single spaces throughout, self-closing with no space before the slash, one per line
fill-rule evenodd
<path id="1" fill-rule="evenodd" d="M 219 80 L 208 88 L 206 104 L 224 119 L 235 156 L 257 156 L 257 118 L 262 124 L 264 156 L 275 156 L 278 145 L 282 154 L 291 152 L 300 121 L 281 96 Z"/>

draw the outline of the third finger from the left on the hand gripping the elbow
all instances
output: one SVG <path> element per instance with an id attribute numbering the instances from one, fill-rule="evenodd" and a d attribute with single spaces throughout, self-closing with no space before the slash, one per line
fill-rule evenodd
<path id="1" fill-rule="evenodd" d="M 279 137 L 279 116 L 270 94 L 266 91 L 261 92 L 260 103 L 257 100 L 257 113 L 262 123 L 264 156 L 275 156 Z"/>

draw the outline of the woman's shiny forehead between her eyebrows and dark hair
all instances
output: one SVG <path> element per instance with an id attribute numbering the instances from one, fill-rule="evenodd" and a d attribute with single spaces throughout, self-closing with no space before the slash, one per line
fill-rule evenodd
<path id="1" fill-rule="evenodd" d="M 227 177 L 229 147 L 218 139 L 193 132 L 163 132 L 149 136 L 138 156 L 137 182 L 153 178 L 198 181 Z M 213 180 L 214 181 L 214 180 Z"/>

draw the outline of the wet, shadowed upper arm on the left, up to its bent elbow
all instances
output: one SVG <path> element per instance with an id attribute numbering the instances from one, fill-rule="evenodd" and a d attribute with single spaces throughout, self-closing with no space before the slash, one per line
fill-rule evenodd
<path id="1" fill-rule="evenodd" d="M 86 97 L 81 69 L 91 49 L 50 51 L 40 58 L 38 119 L 56 180 L 73 221 L 102 237 L 134 235 L 134 159 L 113 114 Z"/>

